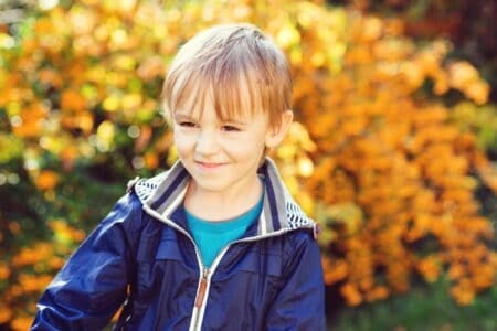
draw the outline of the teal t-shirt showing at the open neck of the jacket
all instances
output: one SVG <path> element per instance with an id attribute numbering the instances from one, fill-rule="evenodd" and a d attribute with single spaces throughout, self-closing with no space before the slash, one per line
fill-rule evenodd
<path id="1" fill-rule="evenodd" d="M 197 217 L 184 209 L 188 227 L 199 246 L 205 267 L 210 267 L 215 256 L 230 242 L 239 239 L 248 226 L 258 218 L 263 207 L 264 195 L 258 203 L 242 215 L 221 222 L 209 222 Z"/>

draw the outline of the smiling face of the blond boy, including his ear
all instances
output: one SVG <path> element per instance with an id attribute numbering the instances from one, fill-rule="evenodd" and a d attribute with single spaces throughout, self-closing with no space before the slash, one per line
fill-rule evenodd
<path id="1" fill-rule="evenodd" d="M 186 106 L 172 115 L 175 143 L 195 189 L 230 196 L 255 188 L 264 148 L 284 132 L 272 129 L 263 111 L 223 121 L 209 98 L 202 111 Z"/>

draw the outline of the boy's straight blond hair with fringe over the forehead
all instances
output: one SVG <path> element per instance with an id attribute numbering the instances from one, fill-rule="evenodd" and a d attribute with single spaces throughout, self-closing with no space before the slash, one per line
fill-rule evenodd
<path id="1" fill-rule="evenodd" d="M 180 49 L 163 84 L 162 105 L 170 119 L 187 102 L 201 111 L 209 96 L 221 120 L 262 110 L 279 126 L 292 107 L 292 88 L 288 62 L 269 38 L 252 24 L 221 24 Z"/>

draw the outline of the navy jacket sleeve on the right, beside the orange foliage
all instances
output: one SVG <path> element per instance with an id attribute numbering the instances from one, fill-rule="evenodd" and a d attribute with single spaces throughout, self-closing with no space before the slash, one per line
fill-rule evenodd
<path id="1" fill-rule="evenodd" d="M 320 252 L 310 236 L 298 236 L 284 267 L 284 284 L 267 314 L 267 330 L 326 330 Z"/>

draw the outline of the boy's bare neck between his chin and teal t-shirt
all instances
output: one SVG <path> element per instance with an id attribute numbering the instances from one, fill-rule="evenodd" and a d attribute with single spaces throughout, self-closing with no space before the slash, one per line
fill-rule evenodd
<path id="1" fill-rule="evenodd" d="M 184 196 L 184 207 L 193 215 L 207 221 L 225 221 L 242 215 L 261 199 L 263 185 L 256 178 L 244 190 L 220 193 L 198 188 L 190 182 Z"/>

